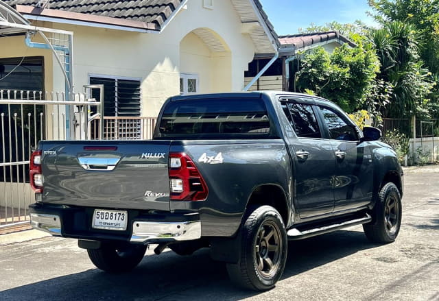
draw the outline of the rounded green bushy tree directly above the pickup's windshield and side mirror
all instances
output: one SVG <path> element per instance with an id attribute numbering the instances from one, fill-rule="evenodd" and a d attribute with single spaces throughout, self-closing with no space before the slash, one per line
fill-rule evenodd
<path id="1" fill-rule="evenodd" d="M 374 51 L 365 49 L 361 43 L 355 48 L 342 45 L 331 54 L 318 47 L 300 61 L 297 84 L 299 91 L 314 91 L 346 112 L 353 112 L 368 106 L 378 71 Z"/>

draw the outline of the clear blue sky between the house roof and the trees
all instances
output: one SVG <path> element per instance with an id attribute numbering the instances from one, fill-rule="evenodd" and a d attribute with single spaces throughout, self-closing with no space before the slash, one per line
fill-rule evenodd
<path id="1" fill-rule="evenodd" d="M 367 0 L 259 0 L 268 19 L 279 36 L 297 34 L 311 23 L 337 21 L 353 23 L 360 20 L 367 25 L 376 25 L 366 11 L 370 11 Z"/>

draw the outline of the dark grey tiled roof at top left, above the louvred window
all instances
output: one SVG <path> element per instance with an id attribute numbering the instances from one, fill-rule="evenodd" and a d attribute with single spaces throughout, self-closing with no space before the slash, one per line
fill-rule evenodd
<path id="1" fill-rule="evenodd" d="M 5 2 L 12 7 L 36 6 L 38 0 L 5 0 Z M 48 8 L 154 23 L 161 28 L 180 3 L 182 0 L 50 0 Z"/>

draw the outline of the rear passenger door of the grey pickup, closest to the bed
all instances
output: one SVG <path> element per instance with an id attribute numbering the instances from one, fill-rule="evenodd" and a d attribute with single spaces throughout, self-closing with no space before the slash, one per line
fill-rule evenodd
<path id="1" fill-rule="evenodd" d="M 281 101 L 297 138 L 287 141 L 294 160 L 294 202 L 300 219 L 331 213 L 335 154 L 328 139 L 322 139 L 312 104 L 298 99 Z"/>

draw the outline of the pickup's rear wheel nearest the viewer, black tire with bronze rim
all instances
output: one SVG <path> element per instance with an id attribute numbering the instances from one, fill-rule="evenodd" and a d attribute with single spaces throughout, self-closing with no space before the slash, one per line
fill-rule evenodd
<path id="1" fill-rule="evenodd" d="M 250 210 L 239 233 L 239 261 L 226 267 L 235 284 L 265 291 L 274 287 L 282 276 L 287 261 L 287 232 L 281 215 L 272 206 Z"/>

